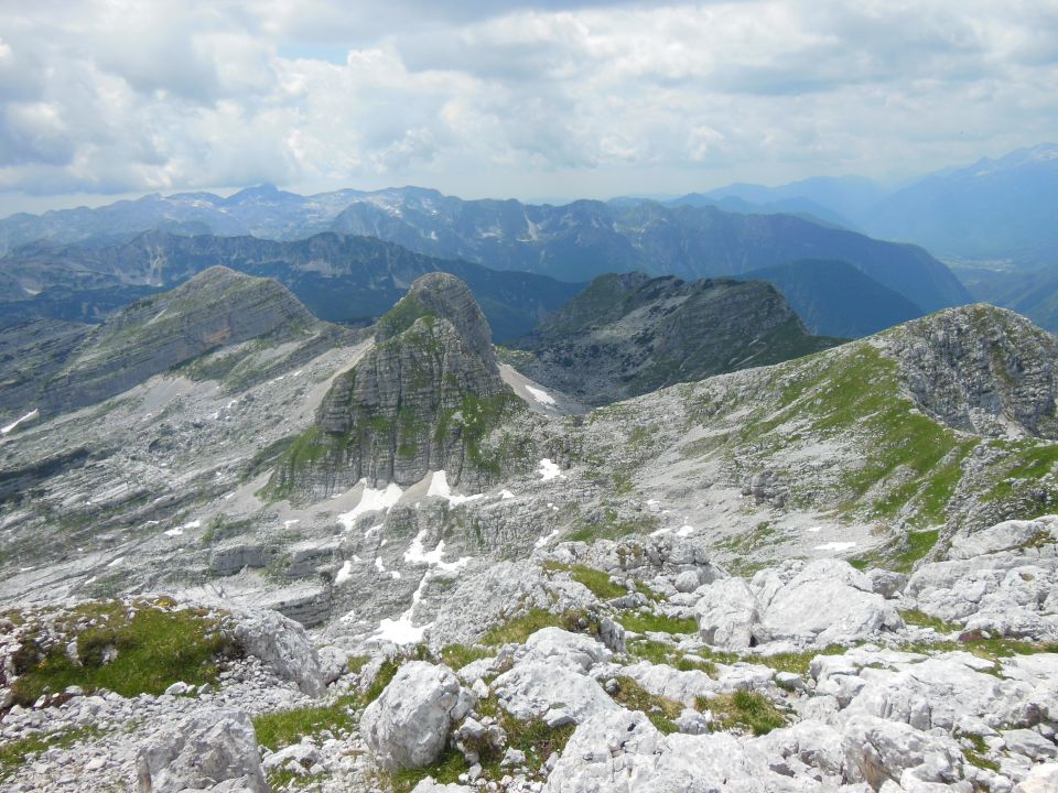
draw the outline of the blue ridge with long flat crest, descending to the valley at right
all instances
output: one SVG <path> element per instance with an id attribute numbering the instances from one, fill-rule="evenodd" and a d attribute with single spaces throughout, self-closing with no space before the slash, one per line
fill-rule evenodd
<path id="1" fill-rule="evenodd" d="M 854 264 L 926 311 L 970 300 L 951 272 L 920 248 L 881 242 L 791 215 L 739 215 L 711 206 L 652 202 L 527 206 L 515 200 L 464 202 L 425 191 L 395 191 L 390 199 L 385 205 L 353 204 L 334 228 L 431 256 L 563 280 L 630 271 L 697 280 L 825 258 Z"/>

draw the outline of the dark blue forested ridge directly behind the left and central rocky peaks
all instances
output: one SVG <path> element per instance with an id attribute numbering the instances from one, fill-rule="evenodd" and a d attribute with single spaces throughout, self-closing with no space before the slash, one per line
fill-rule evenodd
<path id="1" fill-rule="evenodd" d="M 40 294 L 6 306 L 4 321 L 42 315 L 95 319 L 123 298 L 172 287 L 213 264 L 274 278 L 316 316 L 334 322 L 378 316 L 420 275 L 451 272 L 475 292 L 500 338 L 526 333 L 581 289 L 529 273 L 430 259 L 369 238 L 323 233 L 277 242 L 151 231 L 119 245 L 34 243 L 9 253 L 0 259 L 0 274 Z"/>

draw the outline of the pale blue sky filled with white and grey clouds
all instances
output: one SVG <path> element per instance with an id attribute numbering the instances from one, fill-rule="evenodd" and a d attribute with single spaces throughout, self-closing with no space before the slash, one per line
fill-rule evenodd
<path id="1" fill-rule="evenodd" d="M 1058 139 L 1058 0 L 0 0 L 0 215 L 679 195 Z"/>

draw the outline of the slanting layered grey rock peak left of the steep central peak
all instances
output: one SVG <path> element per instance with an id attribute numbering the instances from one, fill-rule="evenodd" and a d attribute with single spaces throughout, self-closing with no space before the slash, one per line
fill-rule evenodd
<path id="1" fill-rule="evenodd" d="M 54 333 L 30 350 L 36 354 L 33 358 L 50 355 L 52 365 L 25 371 L 17 388 L 4 389 L 0 414 L 34 408 L 43 415 L 76 410 L 218 347 L 269 334 L 293 338 L 316 324 L 274 281 L 210 268 L 90 330 L 53 326 Z M 56 356 L 62 366 L 54 366 Z"/>

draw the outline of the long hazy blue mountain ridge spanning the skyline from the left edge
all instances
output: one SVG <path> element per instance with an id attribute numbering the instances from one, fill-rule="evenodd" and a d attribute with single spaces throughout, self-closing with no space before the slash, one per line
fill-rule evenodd
<path id="1" fill-rule="evenodd" d="M 303 197 L 262 185 L 227 198 L 207 193 L 147 196 L 99 209 L 18 215 L 0 221 L 0 250 L 36 240 L 99 247 L 100 239 L 104 246 L 107 240 L 127 242 L 152 229 L 276 240 L 327 230 L 366 235 L 425 256 L 570 282 L 631 271 L 697 280 L 798 259 L 832 259 L 850 262 L 924 311 L 970 300 L 925 250 L 835 228 L 833 219 L 649 200 L 533 206 L 512 199 L 463 200 L 419 187 Z M 489 318 L 503 337 L 504 328 Z"/>

